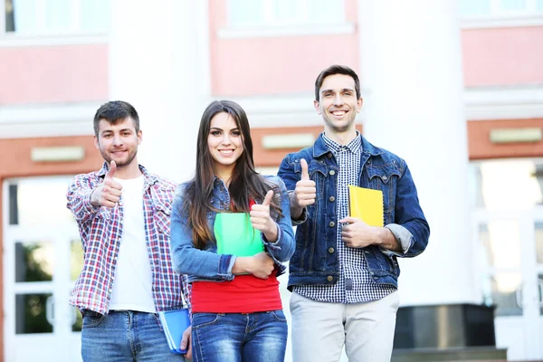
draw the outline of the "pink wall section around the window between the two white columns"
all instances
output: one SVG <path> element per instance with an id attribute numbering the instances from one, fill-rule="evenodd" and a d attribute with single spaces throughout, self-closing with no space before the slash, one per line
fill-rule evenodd
<path id="1" fill-rule="evenodd" d="M 357 0 L 346 1 L 348 23 L 357 21 Z M 311 91 L 311 84 L 333 63 L 358 69 L 357 33 L 222 38 L 227 27 L 225 0 L 210 6 L 212 92 L 246 96 Z"/>

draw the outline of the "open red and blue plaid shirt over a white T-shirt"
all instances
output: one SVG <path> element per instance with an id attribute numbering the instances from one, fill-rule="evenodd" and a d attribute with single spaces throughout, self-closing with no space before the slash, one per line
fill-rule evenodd
<path id="1" fill-rule="evenodd" d="M 143 209 L 155 307 L 157 311 L 180 307 L 184 294 L 191 310 L 191 289 L 186 275 L 173 270 L 170 257 L 170 215 L 176 185 L 149 174 L 145 167 L 139 169 L 145 177 Z M 84 255 L 70 304 L 100 314 L 110 309 L 123 224 L 122 197 L 114 208 L 90 204 L 92 191 L 103 182 L 107 171 L 104 163 L 98 172 L 75 176 L 67 195 L 68 208 L 79 225 Z"/>

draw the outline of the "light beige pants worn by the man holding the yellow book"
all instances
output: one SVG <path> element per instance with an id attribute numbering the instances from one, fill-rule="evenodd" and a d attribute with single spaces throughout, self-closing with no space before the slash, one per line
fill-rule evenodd
<path id="1" fill-rule="evenodd" d="M 293 292 L 292 361 L 335 362 L 345 345 L 349 362 L 390 361 L 399 296 L 341 304 L 310 300 Z"/>

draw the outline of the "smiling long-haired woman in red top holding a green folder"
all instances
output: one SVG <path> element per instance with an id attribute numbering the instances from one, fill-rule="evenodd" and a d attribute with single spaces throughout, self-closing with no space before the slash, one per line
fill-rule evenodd
<path id="1" fill-rule="evenodd" d="M 283 361 L 288 329 L 277 277 L 294 250 L 289 196 L 279 177 L 255 171 L 237 103 L 205 109 L 196 164 L 171 216 L 172 262 L 193 282 L 193 358 Z"/>

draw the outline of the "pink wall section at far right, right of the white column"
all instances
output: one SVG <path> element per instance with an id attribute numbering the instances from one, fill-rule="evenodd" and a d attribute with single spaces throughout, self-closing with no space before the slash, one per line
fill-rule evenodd
<path id="1" fill-rule="evenodd" d="M 543 26 L 462 30 L 466 87 L 543 84 Z"/>

